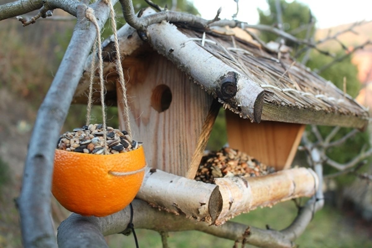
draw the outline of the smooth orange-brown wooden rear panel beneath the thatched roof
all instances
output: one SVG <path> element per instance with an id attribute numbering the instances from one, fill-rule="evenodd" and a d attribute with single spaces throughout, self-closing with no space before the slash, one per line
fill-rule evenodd
<path id="1" fill-rule="evenodd" d="M 251 123 L 230 111 L 226 112 L 226 120 L 231 148 L 244 151 L 276 170 L 291 165 L 304 125 L 271 121 Z"/>

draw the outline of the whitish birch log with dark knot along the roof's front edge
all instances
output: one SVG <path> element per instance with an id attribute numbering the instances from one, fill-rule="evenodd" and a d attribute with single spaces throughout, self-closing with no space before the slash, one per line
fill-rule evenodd
<path id="1" fill-rule="evenodd" d="M 239 71 L 206 51 L 180 32 L 176 26 L 161 22 L 148 26 L 148 41 L 159 54 L 170 59 L 208 93 L 227 103 L 232 112 L 251 122 L 260 122 L 264 90 Z"/>

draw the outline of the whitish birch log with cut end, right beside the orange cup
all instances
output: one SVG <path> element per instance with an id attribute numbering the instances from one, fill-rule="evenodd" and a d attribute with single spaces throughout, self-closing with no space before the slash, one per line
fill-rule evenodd
<path id="1" fill-rule="evenodd" d="M 192 196 L 192 197 L 190 197 Z M 137 198 L 151 206 L 212 224 L 222 209 L 218 186 L 148 169 Z"/>

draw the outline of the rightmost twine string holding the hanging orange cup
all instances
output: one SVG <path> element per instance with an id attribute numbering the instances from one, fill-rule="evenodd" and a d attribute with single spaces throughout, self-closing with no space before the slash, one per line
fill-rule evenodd
<path id="1" fill-rule="evenodd" d="M 112 6 L 111 0 L 103 0 L 104 3 L 108 4 L 110 7 L 110 18 L 111 18 L 111 28 L 113 31 L 113 36 L 114 36 L 114 44 L 115 44 L 115 50 L 116 50 L 116 70 L 118 71 L 119 74 L 119 83 L 122 89 L 122 102 L 124 104 L 124 119 L 126 120 L 125 122 L 125 129 L 128 132 L 129 136 L 132 137 L 132 131 L 131 131 L 131 125 L 129 122 L 129 106 L 128 106 L 128 99 L 126 96 L 126 86 L 125 86 L 125 79 L 124 79 L 124 73 L 123 73 L 123 68 L 121 65 L 121 56 L 120 56 L 120 48 L 119 48 L 119 40 L 118 40 L 118 34 L 116 32 L 116 20 L 115 20 L 115 11 Z"/>

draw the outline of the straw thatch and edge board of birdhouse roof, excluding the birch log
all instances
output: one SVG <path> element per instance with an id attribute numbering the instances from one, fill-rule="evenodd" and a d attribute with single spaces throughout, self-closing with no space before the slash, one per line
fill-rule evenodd
<path id="1" fill-rule="evenodd" d="M 166 25 L 172 24 L 167 23 Z M 159 26 L 161 28 L 161 25 Z M 129 32 L 131 28 L 124 25 L 122 29 Z M 177 30 L 176 32 L 186 35 L 190 42 L 195 42 L 209 55 L 234 68 L 249 81 L 263 89 L 264 97 L 260 120 L 350 126 L 360 129 L 365 128 L 368 123 L 369 115 L 364 107 L 330 81 L 324 80 L 309 68 L 295 62 L 286 51 L 287 47 L 285 46 L 280 48 L 279 53 L 275 51 L 275 48 L 268 51 L 267 47 L 261 47 L 249 35 L 245 35 L 244 30 L 239 28 L 225 29 L 222 32 L 221 29 L 204 32 L 204 30 L 179 26 Z M 137 36 L 137 33 L 134 35 Z M 171 39 L 173 35 L 174 33 L 164 39 Z M 125 39 L 126 37 L 121 39 L 122 45 L 123 42 L 125 44 Z M 140 39 L 137 40 L 141 43 L 137 46 L 140 49 L 143 42 Z M 133 43 L 133 41 L 131 42 Z M 107 50 L 110 42 L 106 42 L 106 44 L 108 45 L 104 49 Z M 271 45 L 275 45 L 275 43 Z M 164 55 L 164 52 L 161 52 L 161 49 L 164 48 L 160 45 L 152 44 L 152 47 Z M 125 52 L 125 55 L 129 55 L 128 52 Z M 176 60 L 173 62 L 177 63 Z M 183 69 L 182 65 L 177 64 L 177 66 L 181 70 Z M 106 67 L 112 68 L 112 63 L 106 62 Z M 106 71 L 112 73 L 112 70 Z M 187 73 L 187 71 L 185 72 Z M 203 82 L 196 78 L 193 79 L 203 88 Z M 83 77 L 81 83 L 83 84 L 86 80 Z M 86 88 L 86 83 L 84 85 Z M 244 87 L 240 86 L 238 91 L 244 90 Z M 81 94 L 81 89 L 79 92 Z M 110 94 L 109 91 L 108 94 Z M 217 97 L 213 92 L 211 94 Z M 244 107 L 241 104 L 234 105 L 223 100 L 221 102 L 224 103 L 225 108 L 240 114 L 241 117 L 247 117 L 241 112 L 241 108 Z"/>

